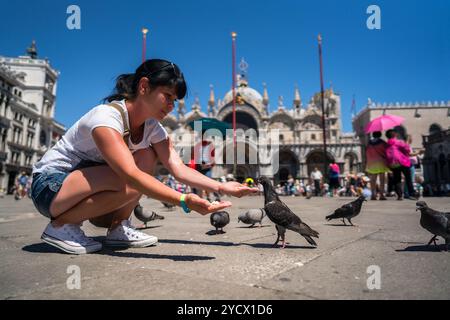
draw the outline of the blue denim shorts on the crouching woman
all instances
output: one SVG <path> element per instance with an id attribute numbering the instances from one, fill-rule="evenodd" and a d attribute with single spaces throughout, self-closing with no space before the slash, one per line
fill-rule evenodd
<path id="1" fill-rule="evenodd" d="M 50 205 L 68 175 L 68 172 L 61 171 L 45 171 L 33 175 L 31 199 L 44 217 L 52 219 Z"/>

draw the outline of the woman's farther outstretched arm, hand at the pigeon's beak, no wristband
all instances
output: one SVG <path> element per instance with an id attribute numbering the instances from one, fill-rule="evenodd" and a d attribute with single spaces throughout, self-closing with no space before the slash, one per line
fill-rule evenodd
<path id="1" fill-rule="evenodd" d="M 206 177 L 197 170 L 189 168 L 181 160 L 170 139 L 153 144 L 153 149 L 156 151 L 161 163 L 175 179 L 192 187 L 205 189 L 210 192 L 225 193 L 239 198 L 259 191 L 258 188 L 249 188 L 238 182 L 220 183 Z"/>

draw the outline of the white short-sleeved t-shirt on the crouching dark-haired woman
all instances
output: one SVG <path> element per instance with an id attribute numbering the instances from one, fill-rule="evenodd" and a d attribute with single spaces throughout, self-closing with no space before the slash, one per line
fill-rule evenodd
<path id="1" fill-rule="evenodd" d="M 128 128 L 130 128 L 125 100 L 114 102 L 124 110 Z M 117 130 L 121 135 L 125 130 L 122 116 L 118 110 L 105 104 L 98 105 L 78 120 L 53 148 L 44 154 L 42 159 L 34 165 L 33 173 L 47 170 L 71 172 L 99 163 L 104 164 L 105 160 L 92 137 L 92 131 L 97 127 L 109 127 Z M 167 131 L 157 120 L 148 119 L 145 121 L 142 140 L 138 144 L 134 144 L 129 136 L 128 148 L 133 153 L 139 149 L 148 148 L 167 137 Z"/>

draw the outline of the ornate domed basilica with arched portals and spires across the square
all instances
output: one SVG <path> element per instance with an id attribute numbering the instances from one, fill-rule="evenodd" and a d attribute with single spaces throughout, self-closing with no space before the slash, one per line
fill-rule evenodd
<path id="1" fill-rule="evenodd" d="M 269 112 L 269 95 L 266 85 L 261 94 L 253 89 L 245 73 L 238 75 L 236 95 L 236 128 L 244 130 L 273 130 L 277 129 L 277 154 L 276 166 L 273 164 L 261 164 L 247 161 L 248 153 L 258 154 L 257 145 L 250 141 L 240 141 L 245 144 L 246 161 L 236 167 L 236 179 L 242 181 L 247 177 L 265 175 L 273 179 L 274 183 L 283 183 L 289 176 L 306 182 L 314 167 L 323 171 L 323 129 L 321 94 L 317 93 L 307 104 L 304 104 L 298 87 L 294 90 L 294 99 L 289 106 L 278 98 L 278 108 Z M 343 133 L 341 123 L 341 101 L 338 93 L 332 88 L 325 91 L 325 128 L 327 140 L 327 163 L 336 161 L 341 170 L 341 176 L 347 173 L 358 173 L 363 170 L 361 166 L 361 144 L 353 133 Z M 174 145 L 183 156 L 183 153 L 191 147 L 191 136 L 194 130 L 189 126 L 192 121 L 201 118 L 216 118 L 232 123 L 233 119 L 233 92 L 227 92 L 223 99 L 216 101 L 214 89 L 211 86 L 207 112 L 203 112 L 198 97 L 195 98 L 191 111 L 186 112 L 185 102 L 178 102 L 177 114 L 168 115 L 162 124 L 169 132 Z M 225 157 L 225 151 L 222 153 Z M 184 159 L 186 162 L 186 159 Z M 217 162 L 217 161 L 216 161 Z M 233 164 L 223 161 L 224 164 L 216 164 L 212 177 L 219 178 L 233 173 Z M 165 175 L 167 172 L 160 165 L 157 174 Z"/>

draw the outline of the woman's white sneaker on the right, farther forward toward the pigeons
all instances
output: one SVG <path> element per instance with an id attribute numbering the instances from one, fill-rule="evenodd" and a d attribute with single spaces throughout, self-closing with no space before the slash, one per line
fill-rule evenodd
<path id="1" fill-rule="evenodd" d="M 129 220 L 123 220 L 117 228 L 108 231 L 104 244 L 118 247 L 143 248 L 154 245 L 157 242 L 157 237 L 140 232 L 131 226 Z"/>

